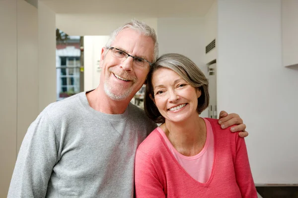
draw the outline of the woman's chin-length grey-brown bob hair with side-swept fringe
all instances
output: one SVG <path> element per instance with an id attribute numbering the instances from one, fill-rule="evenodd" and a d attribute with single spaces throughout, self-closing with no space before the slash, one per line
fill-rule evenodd
<path id="1" fill-rule="evenodd" d="M 209 105 L 209 92 L 208 92 L 208 79 L 204 73 L 199 69 L 199 67 L 191 61 L 188 57 L 178 54 L 178 53 L 166 53 L 160 56 L 157 61 L 150 68 L 144 107 L 145 112 L 151 120 L 156 123 L 164 123 L 165 118 L 159 113 L 156 105 L 153 100 L 150 99 L 150 96 L 154 99 L 154 92 L 152 86 L 152 75 L 159 68 L 168 68 L 180 75 L 187 83 L 192 87 L 198 88 L 201 90 L 201 96 L 198 98 L 198 107 L 197 112 L 202 113 Z"/>

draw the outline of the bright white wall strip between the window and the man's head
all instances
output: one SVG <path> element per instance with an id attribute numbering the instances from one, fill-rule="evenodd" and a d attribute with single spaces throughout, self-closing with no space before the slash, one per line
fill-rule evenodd
<path id="1" fill-rule="evenodd" d="M 109 36 L 84 36 L 84 91 L 95 89 L 99 84 L 99 60 L 101 49 Z"/>

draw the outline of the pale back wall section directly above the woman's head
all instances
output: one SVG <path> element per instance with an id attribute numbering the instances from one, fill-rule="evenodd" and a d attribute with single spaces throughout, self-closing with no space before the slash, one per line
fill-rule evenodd
<path id="1" fill-rule="evenodd" d="M 158 18 L 157 35 L 159 55 L 164 53 L 181 53 L 189 57 L 207 74 L 204 64 L 204 18 Z M 202 117 L 208 117 L 208 109 Z"/>

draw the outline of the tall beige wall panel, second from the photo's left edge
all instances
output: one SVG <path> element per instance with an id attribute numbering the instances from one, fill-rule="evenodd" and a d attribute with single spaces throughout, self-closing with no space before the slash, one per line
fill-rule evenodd
<path id="1" fill-rule="evenodd" d="M 38 115 L 37 8 L 17 0 L 17 152 Z"/>

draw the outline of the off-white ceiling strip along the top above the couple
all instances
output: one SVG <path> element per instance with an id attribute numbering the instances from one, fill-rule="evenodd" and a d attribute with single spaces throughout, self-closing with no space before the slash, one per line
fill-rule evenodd
<path id="1" fill-rule="evenodd" d="M 41 0 L 57 14 L 205 16 L 214 0 Z"/>

